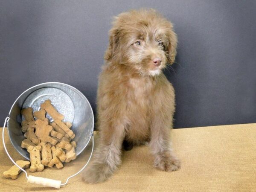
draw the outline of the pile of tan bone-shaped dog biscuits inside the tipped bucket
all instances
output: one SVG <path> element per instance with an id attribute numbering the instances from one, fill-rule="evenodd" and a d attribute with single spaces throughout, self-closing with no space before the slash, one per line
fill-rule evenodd
<path id="1" fill-rule="evenodd" d="M 46 118 L 48 113 L 53 122 Z M 64 116 L 58 113 L 48 99 L 41 104 L 41 109 L 33 113 L 32 108 L 21 110 L 25 120 L 21 123 L 21 131 L 26 137 L 21 147 L 26 148 L 30 155 L 30 172 L 41 172 L 44 166 L 60 169 L 63 163 L 76 159 L 75 134 L 70 129 L 70 122 L 62 122 Z M 34 118 L 35 117 L 35 118 Z M 35 120 L 36 119 L 36 120 Z"/>

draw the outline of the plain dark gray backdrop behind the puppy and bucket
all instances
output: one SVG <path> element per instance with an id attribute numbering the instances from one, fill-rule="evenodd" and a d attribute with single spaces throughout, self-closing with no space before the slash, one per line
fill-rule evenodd
<path id="1" fill-rule="evenodd" d="M 256 122 L 255 0 L 1 0 L 0 126 L 33 85 L 70 84 L 94 112 L 111 18 L 151 7 L 174 23 L 175 128 Z"/>

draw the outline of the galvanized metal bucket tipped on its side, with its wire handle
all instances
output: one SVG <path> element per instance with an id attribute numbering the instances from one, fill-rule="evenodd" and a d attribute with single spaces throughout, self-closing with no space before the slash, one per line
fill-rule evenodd
<path id="1" fill-rule="evenodd" d="M 6 121 L 5 121 L 5 124 L 7 122 L 9 138 L 12 145 L 23 157 L 29 160 L 29 153 L 25 149 L 21 148 L 20 146 L 21 142 L 25 139 L 24 134 L 21 131 L 21 122 L 23 120 L 23 117 L 21 116 L 20 111 L 23 108 L 28 108 L 28 107 L 32 107 L 34 111 L 38 111 L 40 109 L 41 103 L 43 103 L 47 99 L 50 99 L 52 102 L 52 105 L 54 105 L 57 111 L 64 115 L 63 120 L 65 122 L 67 121 L 72 122 L 71 129 L 76 134 L 76 137 L 74 138 L 74 141 L 76 141 L 77 143 L 76 155 L 79 155 L 84 150 L 84 148 L 86 148 L 87 144 L 90 142 L 91 137 L 93 137 L 93 127 L 94 127 L 93 110 L 87 98 L 79 90 L 77 90 L 75 87 L 72 87 L 68 84 L 58 83 L 58 82 L 48 82 L 48 83 L 35 85 L 34 87 L 31 87 L 28 90 L 24 91 L 13 103 L 12 108 L 10 109 L 8 117 L 6 118 Z M 50 119 L 50 121 L 52 121 L 51 117 L 48 114 L 47 114 L 47 117 Z M 6 149 L 6 146 L 4 143 L 4 134 L 2 135 L 2 137 L 3 137 L 3 145 Z M 92 151 L 93 151 L 93 148 L 92 148 Z M 6 149 L 6 153 L 10 157 L 7 149 Z M 91 152 L 91 155 L 92 155 L 92 152 Z M 91 155 L 90 155 L 90 158 L 91 158 Z M 10 159 L 12 160 L 11 157 Z M 12 162 L 17 166 L 17 164 L 13 160 Z M 79 174 L 85 168 L 85 166 L 79 172 L 77 172 L 75 175 L 70 176 L 69 178 Z M 25 170 L 22 169 L 22 171 L 26 173 Z M 31 175 L 29 175 L 29 177 L 30 176 Z M 27 176 L 27 173 L 26 173 L 26 177 L 29 179 L 29 177 Z M 41 177 L 38 177 L 38 178 L 41 178 Z M 39 180 L 40 181 L 37 181 L 37 183 L 42 184 L 44 180 L 49 180 L 49 179 L 41 178 Z M 66 183 L 63 183 L 63 184 L 61 184 L 61 182 L 58 181 L 57 186 L 60 187 L 61 185 L 65 185 L 67 184 L 67 181 Z M 35 183 L 35 180 L 33 182 Z M 56 184 L 55 180 L 51 180 L 51 182 L 53 183 L 55 182 Z M 56 187 L 56 188 L 59 188 L 59 187 Z"/>

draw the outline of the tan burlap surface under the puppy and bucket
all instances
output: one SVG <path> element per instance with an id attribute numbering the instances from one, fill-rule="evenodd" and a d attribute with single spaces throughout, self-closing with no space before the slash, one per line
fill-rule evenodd
<path id="1" fill-rule="evenodd" d="M 174 151 L 181 160 L 180 170 L 167 173 L 155 169 L 148 146 L 139 146 L 123 152 L 121 166 L 105 183 L 86 184 L 78 175 L 61 189 L 29 184 L 23 172 L 17 180 L 4 178 L 3 171 L 12 162 L 1 138 L 0 191 L 256 191 L 256 124 L 175 129 L 171 134 Z M 12 147 L 7 131 L 5 135 L 14 160 L 23 159 Z M 84 165 L 90 149 L 91 143 L 63 169 L 28 173 L 64 182 Z"/>

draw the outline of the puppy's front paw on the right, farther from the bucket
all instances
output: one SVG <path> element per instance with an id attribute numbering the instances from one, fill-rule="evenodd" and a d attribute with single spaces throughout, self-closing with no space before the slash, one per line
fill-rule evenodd
<path id="1" fill-rule="evenodd" d="M 180 168 L 180 160 L 170 152 L 165 152 L 156 157 L 154 166 L 160 170 L 172 172 Z"/>

